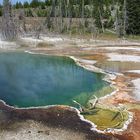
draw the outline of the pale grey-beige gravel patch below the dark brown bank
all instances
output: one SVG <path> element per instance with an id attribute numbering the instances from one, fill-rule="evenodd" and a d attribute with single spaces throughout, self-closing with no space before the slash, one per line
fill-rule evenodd
<path id="1" fill-rule="evenodd" d="M 0 131 L 0 140 L 85 140 L 83 133 L 35 121 L 17 122 Z"/>

